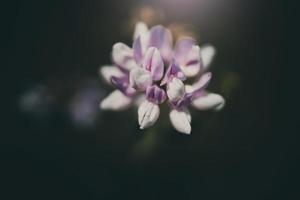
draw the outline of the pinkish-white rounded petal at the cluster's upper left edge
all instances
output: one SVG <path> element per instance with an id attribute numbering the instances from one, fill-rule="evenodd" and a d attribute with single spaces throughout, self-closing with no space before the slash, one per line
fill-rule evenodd
<path id="1" fill-rule="evenodd" d="M 125 70 L 130 70 L 137 66 L 133 58 L 132 49 L 121 42 L 114 44 L 112 50 L 112 58 L 117 66 Z"/>

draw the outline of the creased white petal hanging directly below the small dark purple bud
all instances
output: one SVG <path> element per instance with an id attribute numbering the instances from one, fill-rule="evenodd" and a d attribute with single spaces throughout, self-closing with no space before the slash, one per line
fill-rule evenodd
<path id="1" fill-rule="evenodd" d="M 159 117 L 159 107 L 150 101 L 145 100 L 138 109 L 140 129 L 152 126 Z"/>

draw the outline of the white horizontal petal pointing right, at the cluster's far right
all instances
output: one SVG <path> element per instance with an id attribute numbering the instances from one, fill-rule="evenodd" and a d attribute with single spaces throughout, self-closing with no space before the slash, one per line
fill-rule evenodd
<path id="1" fill-rule="evenodd" d="M 207 93 L 204 96 L 195 99 L 192 102 L 192 105 L 199 110 L 214 109 L 219 111 L 224 107 L 225 99 L 219 94 Z"/>

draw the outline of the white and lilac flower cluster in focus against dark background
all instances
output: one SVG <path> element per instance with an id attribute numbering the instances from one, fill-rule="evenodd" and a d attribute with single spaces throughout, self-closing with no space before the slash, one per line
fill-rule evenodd
<path id="1" fill-rule="evenodd" d="M 148 29 L 137 23 L 132 48 L 116 43 L 112 49 L 113 66 L 102 66 L 100 73 L 117 89 L 100 103 L 101 109 L 122 110 L 138 105 L 141 129 L 152 126 L 160 114 L 159 105 L 170 106 L 174 128 L 191 132 L 191 115 L 187 107 L 199 110 L 223 108 L 224 98 L 206 91 L 211 80 L 208 66 L 215 54 L 214 47 L 199 47 L 193 38 L 182 38 L 173 48 L 170 31 L 161 25 Z M 187 79 L 193 84 L 185 84 Z"/>

